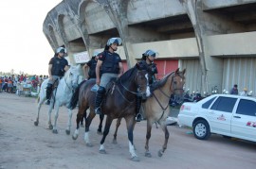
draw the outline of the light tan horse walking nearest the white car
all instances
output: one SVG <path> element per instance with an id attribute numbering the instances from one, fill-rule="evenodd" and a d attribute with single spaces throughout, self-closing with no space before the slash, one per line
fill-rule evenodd
<path id="1" fill-rule="evenodd" d="M 165 142 L 162 149 L 158 151 L 158 156 L 161 157 L 167 148 L 167 143 L 169 139 L 169 131 L 166 127 L 166 118 L 169 115 L 170 107 L 169 100 L 171 95 L 174 94 L 175 101 L 181 103 L 183 98 L 183 86 L 185 84 L 185 72 L 179 72 L 177 69 L 175 72 L 164 76 L 161 80 L 154 83 L 153 96 L 149 97 L 146 102 L 142 103 L 142 108 L 144 110 L 147 119 L 147 135 L 145 144 L 145 156 L 151 157 L 149 152 L 149 140 L 151 138 L 151 129 L 154 123 L 158 123 L 165 133 Z M 114 134 L 113 143 L 117 143 L 117 133 L 120 125 L 121 118 L 117 121 L 116 131 Z"/>

